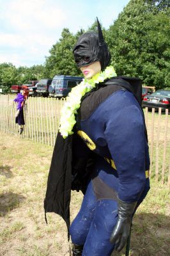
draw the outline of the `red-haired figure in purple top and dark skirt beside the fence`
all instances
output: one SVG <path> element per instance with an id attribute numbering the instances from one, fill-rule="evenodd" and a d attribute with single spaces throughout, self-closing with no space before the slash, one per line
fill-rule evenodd
<path id="1" fill-rule="evenodd" d="M 29 94 L 29 89 L 27 86 L 22 86 L 20 93 L 17 94 L 17 97 L 13 100 L 17 103 L 17 112 L 15 113 L 15 124 L 19 124 L 19 134 L 22 134 L 24 129 L 25 120 L 24 120 L 24 105 Z"/>

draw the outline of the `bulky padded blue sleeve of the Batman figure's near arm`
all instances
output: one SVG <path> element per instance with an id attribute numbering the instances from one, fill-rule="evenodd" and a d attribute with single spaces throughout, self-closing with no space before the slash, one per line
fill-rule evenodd
<path id="1" fill-rule="evenodd" d="M 119 176 L 118 198 L 136 202 L 145 184 L 143 116 L 130 105 L 107 119 L 105 138 Z"/>

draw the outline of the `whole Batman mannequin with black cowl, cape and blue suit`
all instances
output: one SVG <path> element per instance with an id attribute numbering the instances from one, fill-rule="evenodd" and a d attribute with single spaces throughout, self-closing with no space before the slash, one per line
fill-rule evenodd
<path id="1" fill-rule="evenodd" d="M 73 55 L 86 81 L 107 76 L 111 54 L 99 22 L 98 33 L 81 35 Z M 99 81 L 82 95 L 75 120 L 72 134 L 63 138 L 58 132 L 45 214 L 56 212 L 66 221 L 73 256 L 110 256 L 127 243 L 132 216 L 150 189 L 141 80 L 114 76 Z M 84 198 L 70 226 L 71 189 L 81 190 Z"/>

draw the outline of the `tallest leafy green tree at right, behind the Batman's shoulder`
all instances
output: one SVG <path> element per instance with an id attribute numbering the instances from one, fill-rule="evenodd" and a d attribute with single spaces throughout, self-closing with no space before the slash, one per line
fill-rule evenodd
<path id="1" fill-rule="evenodd" d="M 106 34 L 117 74 L 169 86 L 168 35 L 166 1 L 131 0 Z"/>

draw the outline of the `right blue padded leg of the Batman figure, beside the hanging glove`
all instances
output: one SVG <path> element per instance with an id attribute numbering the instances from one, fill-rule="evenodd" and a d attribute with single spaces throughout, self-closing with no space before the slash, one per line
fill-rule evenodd
<path id="1" fill-rule="evenodd" d="M 109 239 L 117 218 L 118 204 L 116 201 L 110 199 L 98 200 L 82 256 L 111 256 L 114 244 Z"/>

